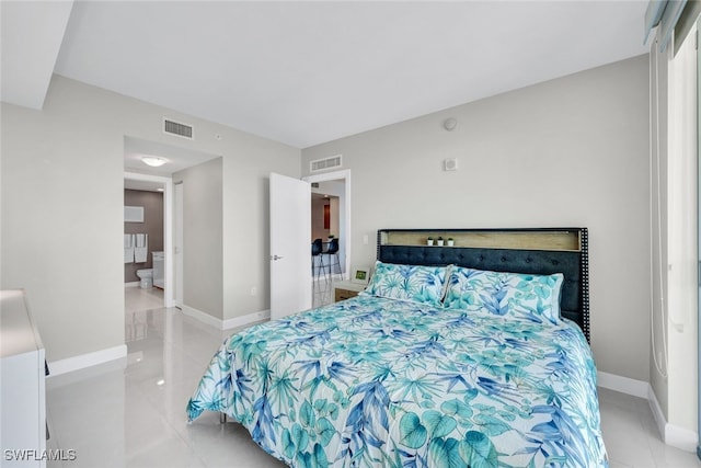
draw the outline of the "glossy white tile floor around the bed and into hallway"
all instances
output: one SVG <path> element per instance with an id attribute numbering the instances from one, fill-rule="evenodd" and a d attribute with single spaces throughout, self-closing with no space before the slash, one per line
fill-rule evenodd
<path id="1" fill-rule="evenodd" d="M 49 467 L 281 467 L 235 423 L 205 413 L 192 424 L 185 404 L 209 358 L 231 332 L 162 307 L 159 289 L 125 289 L 126 363 L 47 380 L 51 438 L 74 449 Z M 700 468 L 696 455 L 664 445 L 647 401 L 600 389 L 611 468 Z"/>

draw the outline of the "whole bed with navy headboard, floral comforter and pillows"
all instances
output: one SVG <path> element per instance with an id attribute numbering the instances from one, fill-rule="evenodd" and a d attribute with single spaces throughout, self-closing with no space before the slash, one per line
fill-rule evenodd
<path id="1" fill-rule="evenodd" d="M 188 420 L 225 413 L 295 467 L 606 467 L 587 243 L 380 230 L 365 292 L 228 338 Z"/>

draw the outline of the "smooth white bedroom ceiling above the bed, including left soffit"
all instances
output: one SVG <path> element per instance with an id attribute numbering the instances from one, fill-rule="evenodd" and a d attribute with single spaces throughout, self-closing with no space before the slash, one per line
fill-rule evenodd
<path id="1" fill-rule="evenodd" d="M 646 7 L 3 0 L 2 100 L 53 70 L 306 148 L 644 54 Z"/>

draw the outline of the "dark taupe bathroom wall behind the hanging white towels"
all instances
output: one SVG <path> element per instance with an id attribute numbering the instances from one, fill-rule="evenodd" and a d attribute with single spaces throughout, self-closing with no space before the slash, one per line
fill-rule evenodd
<path id="1" fill-rule="evenodd" d="M 149 249 L 145 263 L 125 263 L 124 282 L 138 282 L 137 270 L 153 267 L 151 252 L 163 251 L 163 194 L 142 190 L 125 190 L 125 206 L 142 206 L 143 222 L 125 222 L 124 233 L 149 235 Z"/>

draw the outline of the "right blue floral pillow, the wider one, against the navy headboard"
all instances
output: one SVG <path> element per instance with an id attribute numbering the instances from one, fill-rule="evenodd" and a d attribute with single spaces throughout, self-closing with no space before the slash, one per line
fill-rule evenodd
<path id="1" fill-rule="evenodd" d="M 455 266 L 448 279 L 444 307 L 486 309 L 497 316 L 559 323 L 563 279 L 562 273 L 532 275 Z"/>

